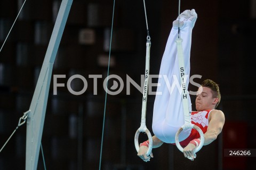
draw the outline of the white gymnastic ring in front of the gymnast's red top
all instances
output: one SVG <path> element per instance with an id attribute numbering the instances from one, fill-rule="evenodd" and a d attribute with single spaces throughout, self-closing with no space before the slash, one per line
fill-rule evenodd
<path id="1" fill-rule="evenodd" d="M 203 131 L 201 130 L 201 128 L 199 128 L 198 126 L 196 125 L 193 125 L 193 124 L 185 124 L 183 126 L 181 126 L 181 128 L 179 129 L 179 131 L 176 133 L 175 135 L 175 144 L 177 145 L 177 148 L 183 153 L 183 148 L 181 147 L 180 145 L 180 142 L 179 142 L 179 135 L 180 135 L 180 132 L 184 129 L 188 129 L 188 128 L 194 128 L 197 130 L 197 132 L 200 134 L 200 143 L 198 145 L 198 147 L 196 147 L 195 149 L 195 153 L 198 152 L 202 147 L 203 147 L 203 144 L 204 144 L 204 133 Z M 196 155 L 195 155 L 196 156 Z M 194 157 L 195 158 L 195 157 Z"/>

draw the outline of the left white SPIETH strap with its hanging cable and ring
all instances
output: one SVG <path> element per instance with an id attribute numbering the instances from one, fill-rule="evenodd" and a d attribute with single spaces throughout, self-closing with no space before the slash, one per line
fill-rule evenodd
<path id="1" fill-rule="evenodd" d="M 148 30 L 148 21 L 147 21 L 147 13 L 146 13 L 146 5 L 145 5 L 145 0 L 143 0 L 144 3 L 144 10 L 145 10 L 145 17 L 146 17 L 146 25 L 147 25 L 147 49 L 146 49 L 146 67 L 145 67 L 145 78 L 144 78 L 144 86 L 143 86 L 143 97 L 142 97 L 142 109 L 141 109 L 141 124 L 137 132 L 135 133 L 134 136 L 134 144 L 137 152 L 139 152 L 139 135 L 140 132 L 145 132 L 148 136 L 149 140 L 149 145 L 148 145 L 148 150 L 147 150 L 147 156 L 148 159 L 145 161 L 149 161 L 150 159 L 150 153 L 152 151 L 153 147 L 153 139 L 151 136 L 151 133 L 146 127 L 146 110 L 147 110 L 147 96 L 148 96 L 148 79 L 149 79 L 149 61 L 150 61 L 150 36 L 149 36 L 149 30 Z"/>

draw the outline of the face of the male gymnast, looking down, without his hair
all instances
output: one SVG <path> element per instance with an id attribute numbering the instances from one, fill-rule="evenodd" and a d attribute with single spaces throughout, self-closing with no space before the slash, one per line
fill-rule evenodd
<path id="1" fill-rule="evenodd" d="M 212 90 L 209 87 L 199 87 L 196 96 L 196 110 L 203 111 L 214 109 L 218 98 L 213 98 Z"/>

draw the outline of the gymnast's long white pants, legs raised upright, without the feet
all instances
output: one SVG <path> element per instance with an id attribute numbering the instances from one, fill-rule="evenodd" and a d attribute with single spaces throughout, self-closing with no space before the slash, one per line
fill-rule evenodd
<path id="1" fill-rule="evenodd" d="M 189 83 L 190 72 L 190 48 L 191 34 L 193 26 L 191 21 L 184 21 L 180 28 L 180 37 L 182 38 L 182 48 L 185 63 L 186 86 Z M 159 71 L 158 87 L 154 103 L 153 112 L 153 132 L 157 138 L 165 143 L 175 143 L 175 134 L 185 123 L 180 87 L 180 72 L 177 56 L 178 28 L 172 27 L 163 54 L 161 68 Z M 168 78 L 166 80 L 166 77 Z M 178 81 L 177 81 L 178 80 Z M 167 83 L 166 83 L 167 82 Z M 168 82 L 170 83 L 168 87 Z M 178 82 L 178 84 L 177 84 Z M 176 84 L 176 85 L 175 85 Z M 173 86 L 175 85 L 175 86 Z M 171 87 L 174 87 L 173 89 Z M 179 86 L 179 87 L 178 87 Z M 189 111 L 191 112 L 191 100 L 188 95 Z M 182 131 L 179 140 L 185 140 L 191 132 L 191 129 Z"/>

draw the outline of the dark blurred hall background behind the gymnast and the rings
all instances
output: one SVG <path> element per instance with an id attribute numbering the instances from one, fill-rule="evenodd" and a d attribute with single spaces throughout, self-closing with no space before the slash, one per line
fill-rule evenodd
<path id="1" fill-rule="evenodd" d="M 1 46 L 23 0 L 0 1 Z M 26 2 L 0 53 L 0 147 L 11 135 L 30 106 L 61 1 Z M 150 74 L 158 74 L 165 43 L 178 16 L 178 0 L 146 1 L 151 37 Z M 256 1 L 181 1 L 181 11 L 195 9 L 190 75 L 201 75 L 220 84 L 219 109 L 226 123 L 218 140 L 203 147 L 192 162 L 171 144 L 154 149 L 145 163 L 137 157 L 134 134 L 140 126 L 142 94 L 126 85 L 118 95 L 108 95 L 102 169 L 253 169 L 255 157 L 225 157 L 224 149 L 255 148 L 254 104 L 256 101 Z M 103 123 L 113 1 L 74 0 L 53 67 L 59 78 L 58 94 L 51 83 L 42 145 L 47 169 L 98 169 Z M 146 22 L 143 1 L 116 1 L 110 75 L 131 77 L 137 84 L 145 71 Z M 254 50 L 253 50 L 254 49 Z M 73 75 L 86 78 L 81 95 L 67 89 Z M 93 78 L 97 79 L 97 95 Z M 53 77 L 52 77 L 53 82 Z M 156 83 L 153 78 L 152 83 Z M 111 85 L 111 82 L 110 82 Z M 118 84 L 119 86 L 120 84 Z M 84 84 L 74 79 L 71 88 Z M 190 90 L 196 91 L 190 85 Z M 153 91 L 155 91 L 153 87 Z M 151 130 L 154 95 L 148 96 L 147 127 Z M 192 96 L 194 102 L 195 97 Z M 140 135 L 145 141 L 146 135 Z M 0 169 L 25 169 L 26 125 L 21 126 L 0 154 Z M 44 169 L 40 153 L 38 169 Z"/>

